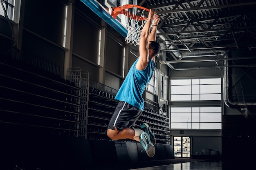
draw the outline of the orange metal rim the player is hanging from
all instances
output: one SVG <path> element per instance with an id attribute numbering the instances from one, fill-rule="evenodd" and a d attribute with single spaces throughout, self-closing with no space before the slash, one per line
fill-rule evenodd
<path id="1" fill-rule="evenodd" d="M 126 9 L 130 9 L 132 7 L 136 7 L 136 8 L 139 8 L 139 9 L 144 9 L 146 11 L 150 11 L 149 9 L 147 8 L 144 8 L 144 7 L 141 7 L 139 5 L 134 5 L 134 4 L 126 4 L 126 5 L 123 5 L 123 6 L 120 6 L 120 7 L 114 7 L 112 8 L 111 10 L 111 16 L 116 19 L 117 15 L 119 14 L 124 14 L 126 15 L 127 17 L 129 18 L 132 18 L 133 20 L 139 20 L 139 21 L 142 21 L 142 20 L 146 20 L 147 17 L 141 17 L 139 15 L 135 15 L 133 13 L 130 13 L 128 12 Z"/>

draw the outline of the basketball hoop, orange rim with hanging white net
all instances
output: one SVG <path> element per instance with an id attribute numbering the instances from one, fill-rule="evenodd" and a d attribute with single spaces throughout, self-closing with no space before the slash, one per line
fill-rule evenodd
<path id="1" fill-rule="evenodd" d="M 137 13 L 137 10 L 140 10 Z M 113 7 L 111 11 L 111 16 L 116 19 L 117 15 L 124 14 L 126 15 L 126 25 L 127 25 L 127 37 L 126 41 L 129 44 L 134 44 L 135 46 L 139 44 L 140 33 L 147 21 L 145 17 L 145 11 L 150 11 L 147 8 L 141 7 L 134 4 L 126 4 L 120 7 Z"/>

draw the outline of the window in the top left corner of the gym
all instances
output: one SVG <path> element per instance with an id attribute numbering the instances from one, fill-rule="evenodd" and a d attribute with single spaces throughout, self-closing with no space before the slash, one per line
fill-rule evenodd
<path id="1" fill-rule="evenodd" d="M 15 4 L 15 0 L 1 0 L 4 6 L 4 9 L 2 8 L 2 4 L 0 4 L 0 15 L 4 16 L 4 17 L 8 17 L 9 20 L 14 20 L 14 4 Z M 7 13 L 7 16 L 5 14 L 5 12 Z"/>

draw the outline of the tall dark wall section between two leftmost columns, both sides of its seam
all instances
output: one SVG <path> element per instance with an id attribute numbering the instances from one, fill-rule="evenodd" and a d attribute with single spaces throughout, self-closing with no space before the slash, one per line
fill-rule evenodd
<path id="1" fill-rule="evenodd" d="M 50 5 L 43 0 L 25 1 L 21 51 L 61 67 L 61 76 L 64 23 L 65 5 L 61 1 L 53 0 Z"/>

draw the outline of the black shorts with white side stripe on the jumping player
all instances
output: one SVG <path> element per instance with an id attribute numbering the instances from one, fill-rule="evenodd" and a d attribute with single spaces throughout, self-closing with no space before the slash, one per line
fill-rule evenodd
<path id="1" fill-rule="evenodd" d="M 122 130 L 126 127 L 134 128 L 135 122 L 141 115 L 142 110 L 128 104 L 127 102 L 119 102 L 110 122 L 108 124 L 108 129 Z"/>

